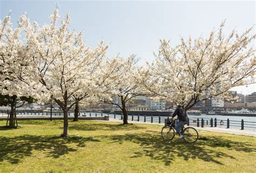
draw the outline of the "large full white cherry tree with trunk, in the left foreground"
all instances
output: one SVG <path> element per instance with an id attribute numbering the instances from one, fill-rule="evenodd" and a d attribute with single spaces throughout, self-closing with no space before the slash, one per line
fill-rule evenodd
<path id="1" fill-rule="evenodd" d="M 35 92 L 40 100 L 50 98 L 64 112 L 63 137 L 68 136 L 68 111 L 79 101 L 98 93 L 96 77 L 107 45 L 100 41 L 91 49 L 83 41 L 83 32 L 69 29 L 69 13 L 57 25 L 58 9 L 50 16 L 50 24 L 31 24 L 26 15 L 20 16 L 19 26 L 26 37 L 26 73 L 36 81 Z M 40 91 L 36 91 L 40 88 Z M 43 92 L 42 92 L 43 91 Z"/>

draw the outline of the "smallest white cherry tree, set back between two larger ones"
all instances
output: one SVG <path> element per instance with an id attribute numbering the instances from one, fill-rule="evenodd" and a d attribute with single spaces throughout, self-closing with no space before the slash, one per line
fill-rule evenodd
<path id="1" fill-rule="evenodd" d="M 116 105 L 123 112 L 123 124 L 128 123 L 127 104 L 137 95 L 142 95 L 140 81 L 137 80 L 140 67 L 136 66 L 136 56 L 132 55 L 127 59 L 116 57 L 106 62 L 102 68 L 103 72 L 100 81 L 104 91 L 100 100 L 111 105 Z M 116 102 L 113 98 L 120 99 Z"/>

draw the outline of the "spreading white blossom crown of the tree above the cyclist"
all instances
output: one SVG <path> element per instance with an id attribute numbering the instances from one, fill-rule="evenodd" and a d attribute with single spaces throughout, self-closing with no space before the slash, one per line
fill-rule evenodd
<path id="1" fill-rule="evenodd" d="M 233 30 L 225 37 L 224 24 L 208 38 L 181 38 L 176 46 L 160 40 L 156 60 L 138 76 L 147 91 L 156 99 L 181 104 L 186 111 L 211 97 L 231 99 L 228 90 L 232 87 L 254 83 L 253 28 L 242 34 Z"/>

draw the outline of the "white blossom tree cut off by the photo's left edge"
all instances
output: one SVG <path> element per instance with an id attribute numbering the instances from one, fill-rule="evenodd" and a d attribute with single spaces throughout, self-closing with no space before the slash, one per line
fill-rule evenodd
<path id="1" fill-rule="evenodd" d="M 10 13 L 0 20 L 0 105 L 11 107 L 9 127 L 14 128 L 16 104 L 32 103 L 33 98 L 26 82 L 28 77 L 24 75 L 26 64 L 22 50 L 25 46 L 21 40 L 21 27 L 13 29 Z"/>

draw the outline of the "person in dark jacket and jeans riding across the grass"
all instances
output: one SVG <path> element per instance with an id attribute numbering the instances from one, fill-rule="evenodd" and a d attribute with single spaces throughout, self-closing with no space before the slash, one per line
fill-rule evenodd
<path id="1" fill-rule="evenodd" d="M 177 133 L 179 134 L 179 139 L 182 139 L 184 136 L 180 132 L 180 128 L 187 123 L 187 115 L 184 112 L 183 108 L 181 108 L 181 105 L 178 105 L 177 109 L 174 111 L 171 120 L 174 116 L 178 115 L 179 122 L 177 123 L 175 129 Z"/>

